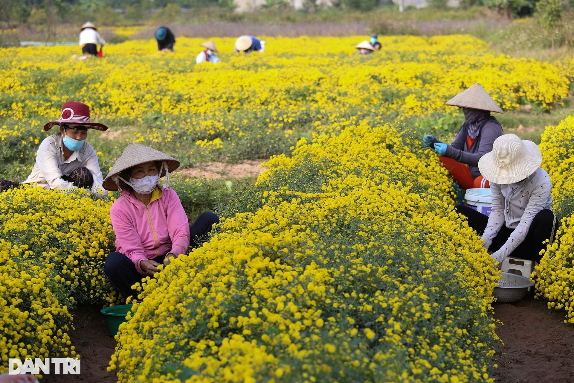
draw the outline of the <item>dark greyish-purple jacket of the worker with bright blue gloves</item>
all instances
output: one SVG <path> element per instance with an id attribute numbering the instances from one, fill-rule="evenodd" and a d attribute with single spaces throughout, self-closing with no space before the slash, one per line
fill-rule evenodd
<path id="1" fill-rule="evenodd" d="M 504 133 L 502 131 L 501 123 L 491 116 L 485 119 L 482 123 L 482 126 L 478 131 L 478 136 L 476 136 L 470 148 L 467 146 L 467 134 L 468 123 L 465 122 L 460 128 L 455 141 L 453 141 L 451 145 L 447 146 L 447 152 L 444 156 L 452 158 L 459 163 L 467 164 L 470 168 L 471 176 L 476 178 L 480 176 L 478 160 L 480 160 L 480 157 L 484 156 L 484 154 L 492 152 L 492 144 L 494 144 L 494 140 L 502 136 Z M 441 141 L 435 138 L 432 145 L 434 145 L 435 142 Z"/>

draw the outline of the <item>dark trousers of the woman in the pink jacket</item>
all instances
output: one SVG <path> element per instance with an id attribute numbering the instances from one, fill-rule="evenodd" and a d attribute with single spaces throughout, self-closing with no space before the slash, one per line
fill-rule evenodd
<path id="1" fill-rule="evenodd" d="M 191 234 L 191 246 L 199 247 L 201 243 L 207 241 L 211 227 L 214 223 L 219 223 L 219 217 L 211 211 L 204 211 L 189 227 L 189 234 Z M 165 259 L 165 254 L 156 258 L 158 264 L 161 264 Z M 135 264 L 125 254 L 118 252 L 111 252 L 106 257 L 106 264 L 104 265 L 104 274 L 108 277 L 111 284 L 122 293 L 123 296 L 137 297 L 137 291 L 131 286 L 137 282 L 141 282 L 143 276 L 135 269 Z"/>

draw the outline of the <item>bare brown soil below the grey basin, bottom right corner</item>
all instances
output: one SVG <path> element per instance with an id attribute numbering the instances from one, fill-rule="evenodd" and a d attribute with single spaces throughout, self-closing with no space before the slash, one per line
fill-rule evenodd
<path id="1" fill-rule="evenodd" d="M 574 324 L 564 323 L 564 310 L 523 299 L 494 304 L 494 318 L 504 323 L 497 328 L 504 342 L 495 360 L 498 382 L 574 381 Z"/>

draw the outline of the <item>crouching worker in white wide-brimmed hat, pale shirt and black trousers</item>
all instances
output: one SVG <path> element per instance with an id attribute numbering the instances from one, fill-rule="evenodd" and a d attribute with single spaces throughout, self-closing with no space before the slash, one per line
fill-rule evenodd
<path id="1" fill-rule="evenodd" d="M 542 154 L 532 141 L 515 134 L 498 137 L 492 152 L 478 162 L 480 173 L 490 181 L 490 217 L 468 206 L 456 210 L 468 219 L 484 239 L 495 261 L 508 257 L 540 262 L 540 251 L 552 244 L 558 219 L 552 212 L 552 183 L 540 168 Z"/>

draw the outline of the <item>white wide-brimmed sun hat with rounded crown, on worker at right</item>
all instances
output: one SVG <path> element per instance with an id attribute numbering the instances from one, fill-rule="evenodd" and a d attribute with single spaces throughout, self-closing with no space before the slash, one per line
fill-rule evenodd
<path id="1" fill-rule="evenodd" d="M 494 140 L 492 152 L 478 160 L 480 174 L 495 184 L 513 184 L 536 172 L 542 164 L 542 153 L 532 141 L 516 134 L 503 134 Z"/>

